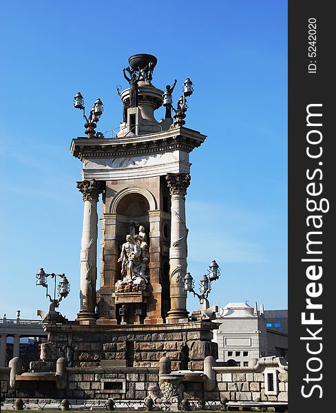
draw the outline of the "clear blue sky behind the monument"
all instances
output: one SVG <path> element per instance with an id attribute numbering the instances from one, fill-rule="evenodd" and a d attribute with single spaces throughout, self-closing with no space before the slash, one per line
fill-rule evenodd
<path id="1" fill-rule="evenodd" d="M 158 58 L 157 87 L 178 79 L 175 101 L 185 78 L 194 83 L 186 126 L 207 135 L 191 153 L 186 204 L 196 284 L 216 260 L 211 304 L 287 308 L 286 1 L 17 0 L 1 11 L 0 312 L 48 309 L 34 285 L 43 266 L 70 279 L 60 310 L 75 317 L 83 201 L 69 147 L 84 128 L 72 100 L 100 97 L 97 129 L 117 127 L 116 85 L 127 87 L 136 53 Z"/>

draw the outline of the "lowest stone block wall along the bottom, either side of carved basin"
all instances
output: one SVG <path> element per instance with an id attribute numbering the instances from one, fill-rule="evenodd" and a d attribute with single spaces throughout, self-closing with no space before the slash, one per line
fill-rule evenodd
<path id="1" fill-rule="evenodd" d="M 167 343 L 172 343 L 167 341 Z M 169 344 L 170 346 L 170 344 Z M 183 398 L 201 401 L 288 401 L 288 373 L 284 368 L 272 368 L 258 372 L 230 372 L 231 368 L 215 367 L 213 387 L 209 391 L 207 380 L 200 376 L 196 381 L 182 381 Z M 237 369 L 237 368 L 232 368 Z M 1 395 L 23 399 L 133 399 L 143 400 L 150 386 L 160 382 L 158 368 L 66 368 L 65 390 L 57 390 L 52 381 L 19 381 L 17 390 L 9 390 L 9 369 L 0 374 Z M 275 374 L 273 394 L 266 394 L 265 376 Z M 174 374 L 174 371 L 172 372 Z M 204 372 L 205 374 L 205 372 Z M 208 389 L 208 390 L 207 390 Z"/>

